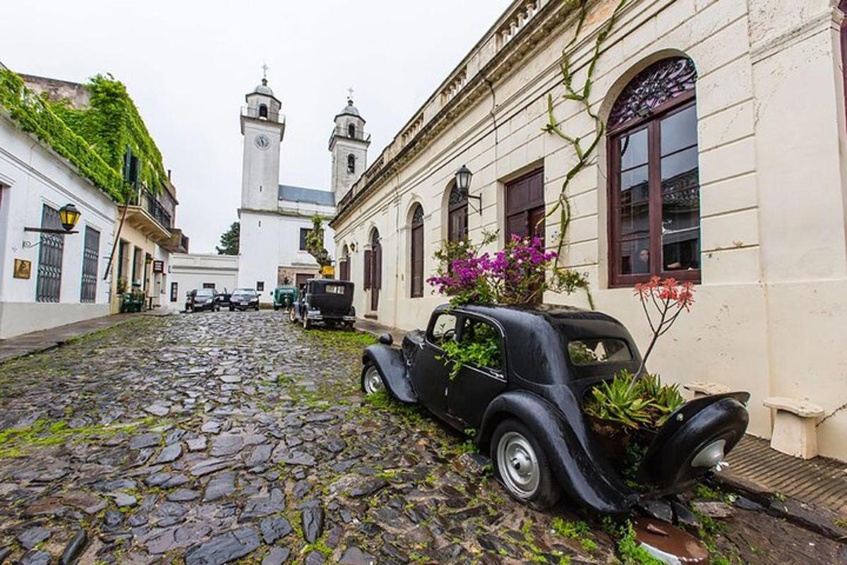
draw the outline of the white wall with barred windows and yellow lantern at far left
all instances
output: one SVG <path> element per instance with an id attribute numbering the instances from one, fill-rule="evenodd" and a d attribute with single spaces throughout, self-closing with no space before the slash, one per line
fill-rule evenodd
<path id="1" fill-rule="evenodd" d="M 112 248 L 115 206 L 102 191 L 76 173 L 64 158 L 20 131 L 0 114 L 0 338 L 108 315 L 109 281 L 102 280 Z M 75 204 L 81 216 L 76 230 L 64 235 L 62 282 L 58 303 L 36 302 L 40 227 L 44 204 Z M 80 302 L 86 226 L 100 232 L 95 302 Z M 14 259 L 32 264 L 30 279 L 15 279 Z"/>

